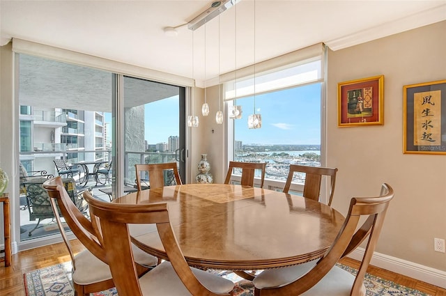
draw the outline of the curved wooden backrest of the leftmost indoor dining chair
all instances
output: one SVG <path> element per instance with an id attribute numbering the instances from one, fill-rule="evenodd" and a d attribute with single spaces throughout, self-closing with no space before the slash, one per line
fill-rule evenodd
<path id="1" fill-rule="evenodd" d="M 75 257 L 72 252 L 70 241 L 66 237 L 66 233 L 61 222 L 61 216 L 59 215 L 59 211 L 57 210 L 58 206 L 63 215 L 63 218 L 66 221 L 66 224 L 68 224 L 72 233 L 75 234 L 77 239 L 86 247 L 86 249 L 89 249 L 89 251 L 94 256 L 107 263 L 105 251 L 100 245 L 98 237 L 95 236 L 93 224 L 82 214 L 75 203 L 72 202 L 70 195 L 68 194 L 67 189 L 63 184 L 62 178 L 55 177 L 49 179 L 43 183 L 43 187 L 50 197 L 49 201 L 54 212 L 54 217 L 56 217 L 56 222 L 59 226 L 59 230 L 61 231 L 63 242 L 65 242 L 68 251 L 70 252 L 73 267 L 76 266 Z"/>

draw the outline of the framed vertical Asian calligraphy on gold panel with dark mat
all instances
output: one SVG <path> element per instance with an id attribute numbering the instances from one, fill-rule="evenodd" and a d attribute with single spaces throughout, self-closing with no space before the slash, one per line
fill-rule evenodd
<path id="1" fill-rule="evenodd" d="M 403 153 L 446 154 L 446 80 L 403 86 Z"/>

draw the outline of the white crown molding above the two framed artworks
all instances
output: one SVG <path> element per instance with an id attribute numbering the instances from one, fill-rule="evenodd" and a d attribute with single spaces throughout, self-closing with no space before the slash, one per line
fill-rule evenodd
<path id="1" fill-rule="evenodd" d="M 325 42 L 333 51 L 445 20 L 446 4 Z"/>

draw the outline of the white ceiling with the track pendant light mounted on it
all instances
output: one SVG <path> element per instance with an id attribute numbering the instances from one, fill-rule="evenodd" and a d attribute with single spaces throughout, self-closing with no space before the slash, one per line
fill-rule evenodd
<path id="1" fill-rule="evenodd" d="M 446 20 L 446 0 L 242 0 L 194 33 L 164 33 L 212 2 L 0 0 L 0 45 L 20 38 L 210 86 L 219 73 L 318 42 L 337 50 Z"/>

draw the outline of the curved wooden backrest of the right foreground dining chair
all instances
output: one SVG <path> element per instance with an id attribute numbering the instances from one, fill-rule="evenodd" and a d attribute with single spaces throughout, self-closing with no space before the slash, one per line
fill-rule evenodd
<path id="1" fill-rule="evenodd" d="M 367 240 L 367 247 L 365 248 L 364 256 L 355 276 L 350 294 L 363 295 L 362 284 L 364 283 L 364 275 L 367 272 L 371 256 L 374 254 L 381 228 L 383 228 L 385 213 L 393 197 L 392 187 L 384 183 L 381 187 L 380 196 L 351 198 L 350 208 L 348 209 L 344 225 L 325 255 L 318 260 L 316 266 L 307 274 L 300 277 L 297 281 L 293 281 L 293 283 L 274 289 L 275 293 L 277 295 L 300 295 L 304 293 L 316 285 L 318 281 L 321 281 L 340 258 L 348 255 L 364 240 Z M 365 217 L 366 220 L 360 228 L 357 228 L 362 217 Z"/>

